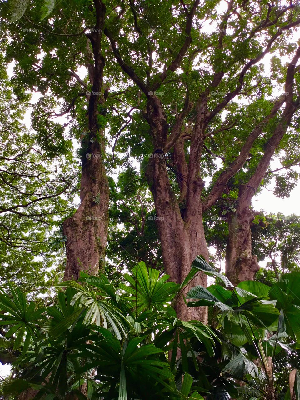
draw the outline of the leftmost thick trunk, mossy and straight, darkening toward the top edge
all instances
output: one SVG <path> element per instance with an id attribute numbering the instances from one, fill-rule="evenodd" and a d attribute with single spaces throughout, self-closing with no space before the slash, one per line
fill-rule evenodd
<path id="1" fill-rule="evenodd" d="M 104 266 L 108 230 L 108 180 L 104 168 L 104 127 L 98 117 L 104 110 L 107 93 L 103 84 L 104 57 L 101 42 L 106 8 L 94 1 L 96 25 L 89 33 L 87 60 L 92 90 L 87 94 L 88 132 L 82 136 L 82 173 L 80 180 L 80 206 L 76 213 L 64 221 L 66 235 L 66 269 L 64 280 L 78 279 L 80 270 L 96 274 Z M 91 62 L 93 61 L 93 62 Z"/>

